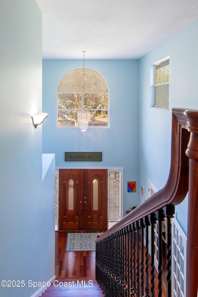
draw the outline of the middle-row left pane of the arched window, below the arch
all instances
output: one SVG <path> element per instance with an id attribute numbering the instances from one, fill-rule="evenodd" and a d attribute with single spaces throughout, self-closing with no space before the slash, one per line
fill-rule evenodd
<path id="1" fill-rule="evenodd" d="M 58 94 L 58 109 L 81 109 L 81 94 Z"/>

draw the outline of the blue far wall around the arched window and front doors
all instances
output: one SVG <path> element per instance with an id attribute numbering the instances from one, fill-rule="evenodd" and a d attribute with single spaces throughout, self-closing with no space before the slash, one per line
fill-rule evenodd
<path id="1" fill-rule="evenodd" d="M 57 129 L 56 94 L 61 78 L 83 60 L 43 60 L 43 153 L 55 153 L 56 166 L 123 166 L 124 213 L 139 204 L 138 60 L 85 60 L 105 78 L 110 91 L 110 128 Z M 102 162 L 65 162 L 65 152 L 102 152 Z M 127 181 L 136 181 L 137 193 L 127 193 Z"/>

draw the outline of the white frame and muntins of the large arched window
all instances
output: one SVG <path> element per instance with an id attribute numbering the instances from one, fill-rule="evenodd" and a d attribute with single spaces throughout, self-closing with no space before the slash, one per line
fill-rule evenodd
<path id="1" fill-rule="evenodd" d="M 76 68 L 73 68 L 71 70 L 69 70 L 67 73 L 75 70 L 75 69 L 82 69 L 83 67 L 76 67 Z M 108 83 L 106 81 L 106 79 L 104 78 L 104 76 L 98 72 L 96 69 L 93 69 L 93 68 L 90 68 L 90 67 L 85 67 L 86 69 L 90 69 L 90 70 L 93 70 L 95 72 L 97 72 L 99 75 L 101 75 L 101 77 L 104 79 L 106 85 L 107 85 L 107 88 L 108 88 L 108 92 L 84 92 L 84 94 L 108 94 L 108 109 L 100 109 L 100 110 L 104 110 L 104 111 L 108 111 L 108 125 L 107 126 L 88 126 L 87 129 L 109 129 L 110 128 L 110 101 L 109 101 L 109 98 L 110 98 L 110 91 L 109 91 L 109 86 L 108 86 Z M 65 73 L 62 78 L 60 79 L 60 81 L 58 82 L 58 87 L 60 85 L 60 82 L 62 81 L 62 79 L 64 78 L 64 76 L 67 75 L 67 73 Z M 57 92 L 56 92 L 56 128 L 57 129 L 79 129 L 79 126 L 58 126 L 58 111 L 59 110 L 65 110 L 65 109 L 58 109 L 58 94 L 83 94 L 83 92 L 58 92 L 58 87 L 57 87 Z M 82 95 L 83 97 L 83 95 Z M 84 98 L 83 98 L 84 100 Z M 82 106 L 83 108 L 83 106 Z M 72 109 L 72 110 L 82 110 L 82 109 Z M 94 110 L 94 109 L 85 109 L 86 111 L 87 110 Z"/>

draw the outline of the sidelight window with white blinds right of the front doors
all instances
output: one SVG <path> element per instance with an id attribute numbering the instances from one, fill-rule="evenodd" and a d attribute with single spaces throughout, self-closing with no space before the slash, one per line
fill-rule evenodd
<path id="1" fill-rule="evenodd" d="M 109 171 L 109 221 L 121 219 L 121 172 Z"/>

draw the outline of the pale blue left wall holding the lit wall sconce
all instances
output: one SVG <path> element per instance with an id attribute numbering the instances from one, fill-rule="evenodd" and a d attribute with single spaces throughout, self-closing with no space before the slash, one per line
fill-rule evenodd
<path id="1" fill-rule="evenodd" d="M 42 126 L 30 117 L 42 111 L 42 15 L 35 0 L 10 0 L 0 20 L 0 280 L 25 283 L 0 295 L 29 297 L 28 280 L 54 276 L 55 162 L 42 183 Z"/>

